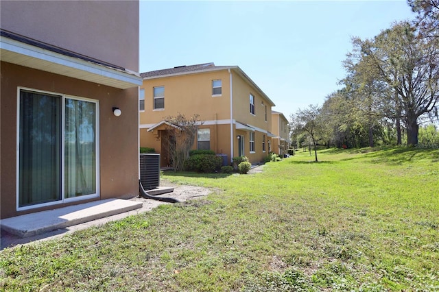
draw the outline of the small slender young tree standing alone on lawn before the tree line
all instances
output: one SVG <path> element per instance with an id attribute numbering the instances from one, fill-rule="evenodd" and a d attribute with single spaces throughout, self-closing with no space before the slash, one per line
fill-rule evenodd
<path id="1" fill-rule="evenodd" d="M 318 105 L 309 105 L 305 110 L 298 110 L 296 114 L 291 115 L 291 126 L 293 132 L 306 132 L 311 138 L 314 146 L 314 154 L 317 159 L 317 141 L 318 135 L 322 132 L 322 124 L 320 123 L 320 108 Z"/>

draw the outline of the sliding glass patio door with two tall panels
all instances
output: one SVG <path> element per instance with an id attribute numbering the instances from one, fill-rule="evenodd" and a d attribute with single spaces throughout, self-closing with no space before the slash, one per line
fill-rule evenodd
<path id="1" fill-rule="evenodd" d="M 19 208 L 98 195 L 97 112 L 97 101 L 20 90 Z"/>

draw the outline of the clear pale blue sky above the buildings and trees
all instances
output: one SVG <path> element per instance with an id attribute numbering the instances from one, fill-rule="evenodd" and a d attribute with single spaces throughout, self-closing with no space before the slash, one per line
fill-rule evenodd
<path id="1" fill-rule="evenodd" d="M 414 19 L 407 1 L 140 1 L 140 72 L 239 66 L 289 114 L 340 88 L 351 36 Z"/>

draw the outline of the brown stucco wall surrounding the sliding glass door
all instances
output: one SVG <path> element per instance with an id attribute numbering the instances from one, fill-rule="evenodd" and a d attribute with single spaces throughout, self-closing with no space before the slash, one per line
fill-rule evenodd
<path id="1" fill-rule="evenodd" d="M 1 62 L 1 218 L 65 206 L 16 212 L 16 114 L 17 88 L 86 97 L 99 101 L 100 198 L 138 193 L 138 89 L 121 90 Z M 112 107 L 121 108 L 120 117 Z M 75 204 L 84 201 L 75 202 Z"/>

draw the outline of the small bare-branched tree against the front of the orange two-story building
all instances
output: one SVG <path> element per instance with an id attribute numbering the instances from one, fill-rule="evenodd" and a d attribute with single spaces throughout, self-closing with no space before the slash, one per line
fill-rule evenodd
<path id="1" fill-rule="evenodd" d="M 180 113 L 176 117 L 165 118 L 167 134 L 162 135 L 162 143 L 165 143 L 168 147 L 168 154 L 174 171 L 183 170 L 185 161 L 189 158 L 189 151 L 195 143 L 198 126 L 202 124 L 203 122 L 200 121 L 198 114 L 194 114 L 189 119 Z"/>

